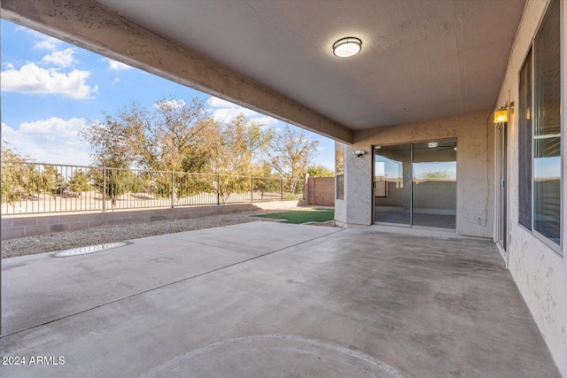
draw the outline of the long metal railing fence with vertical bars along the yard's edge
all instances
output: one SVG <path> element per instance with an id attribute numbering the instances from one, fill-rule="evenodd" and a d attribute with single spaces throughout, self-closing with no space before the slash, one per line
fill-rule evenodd
<path id="1" fill-rule="evenodd" d="M 87 212 L 303 197 L 302 180 L 33 162 L 2 163 L 2 214 Z"/>

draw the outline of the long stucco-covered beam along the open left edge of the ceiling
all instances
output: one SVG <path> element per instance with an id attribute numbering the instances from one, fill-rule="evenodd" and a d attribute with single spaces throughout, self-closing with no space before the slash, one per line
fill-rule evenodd
<path id="1" fill-rule="evenodd" d="M 91 0 L 0 0 L 3 19 L 344 143 L 353 131 Z"/>

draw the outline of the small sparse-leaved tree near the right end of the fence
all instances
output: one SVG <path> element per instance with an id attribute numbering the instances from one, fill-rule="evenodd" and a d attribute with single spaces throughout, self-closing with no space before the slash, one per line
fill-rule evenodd
<path id="1" fill-rule="evenodd" d="M 292 195 L 308 164 L 315 157 L 318 143 L 319 141 L 307 138 L 305 130 L 291 128 L 290 125 L 285 125 L 272 138 L 266 161 L 278 174 L 291 181 Z"/>

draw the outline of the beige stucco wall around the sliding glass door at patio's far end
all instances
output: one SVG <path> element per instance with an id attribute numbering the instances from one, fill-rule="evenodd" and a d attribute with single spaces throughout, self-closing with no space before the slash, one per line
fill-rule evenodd
<path id="1" fill-rule="evenodd" d="M 457 140 L 457 233 L 493 236 L 493 125 L 490 111 L 380 127 L 354 134 L 346 147 L 346 223 L 372 223 L 372 146 Z M 352 150 L 368 153 L 357 158 Z"/>

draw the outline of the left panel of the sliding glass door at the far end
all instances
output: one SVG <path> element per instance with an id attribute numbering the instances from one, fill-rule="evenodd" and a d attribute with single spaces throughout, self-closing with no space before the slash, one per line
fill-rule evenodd
<path id="1" fill-rule="evenodd" d="M 376 149 L 374 164 L 375 220 L 411 224 L 411 144 Z"/>

